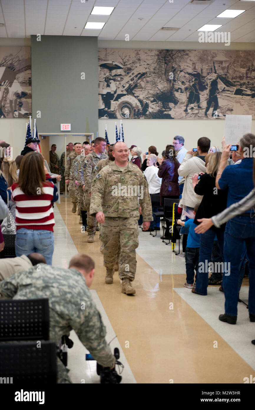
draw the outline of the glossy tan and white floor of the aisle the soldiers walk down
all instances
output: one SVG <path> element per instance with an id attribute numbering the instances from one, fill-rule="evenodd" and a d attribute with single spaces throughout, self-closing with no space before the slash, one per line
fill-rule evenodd
<path id="1" fill-rule="evenodd" d="M 255 323 L 248 321 L 243 304 L 239 303 L 237 325 L 220 322 L 224 296 L 218 287 L 209 287 L 208 296 L 191 294 L 183 287 L 184 258 L 147 232 L 139 235 L 136 295 L 122 294 L 117 272 L 113 285 L 104 283 L 99 232 L 88 244 L 79 217 L 71 213 L 70 199 L 61 198 L 56 207 L 56 216 L 60 212 L 63 220 L 59 217 L 54 228 L 53 264 L 66 267 L 76 249 L 93 257 L 96 273 L 90 289 L 96 291 L 137 383 L 244 383 L 244 377 L 254 374 L 255 347 L 250 340 L 255 337 Z M 247 284 L 245 279 L 244 299 Z"/>

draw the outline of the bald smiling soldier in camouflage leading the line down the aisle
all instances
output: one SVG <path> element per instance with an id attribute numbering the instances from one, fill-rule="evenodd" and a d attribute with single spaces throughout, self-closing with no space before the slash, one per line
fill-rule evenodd
<path id="1" fill-rule="evenodd" d="M 107 284 L 113 283 L 114 264 L 120 243 L 119 276 L 122 293 L 134 294 L 135 249 L 138 247 L 139 207 L 142 207 L 144 230 L 152 221 L 151 198 L 142 171 L 128 162 L 129 150 L 124 142 L 113 146 L 113 165 L 95 175 L 92 184 L 90 215 L 102 223 L 101 236 Z M 138 202 L 139 200 L 139 202 Z"/>

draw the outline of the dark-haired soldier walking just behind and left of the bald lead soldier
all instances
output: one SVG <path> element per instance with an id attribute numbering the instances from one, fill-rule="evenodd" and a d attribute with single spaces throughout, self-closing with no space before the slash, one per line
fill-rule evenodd
<path id="1" fill-rule="evenodd" d="M 107 155 L 104 154 L 106 148 L 106 140 L 102 137 L 97 137 L 95 139 L 94 151 L 88 154 L 79 165 L 78 171 L 78 182 L 81 185 L 84 196 L 83 203 L 87 209 L 87 232 L 88 232 L 88 243 L 94 242 L 94 235 L 96 232 L 96 219 L 89 214 L 90 209 L 90 196 L 91 196 L 91 184 L 92 184 L 92 174 L 95 166 L 100 161 L 100 159 L 106 159 Z"/>

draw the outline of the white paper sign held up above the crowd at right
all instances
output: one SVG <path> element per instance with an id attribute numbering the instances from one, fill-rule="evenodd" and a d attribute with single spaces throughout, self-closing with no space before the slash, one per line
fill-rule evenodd
<path id="1" fill-rule="evenodd" d="M 224 135 L 226 144 L 236 145 L 239 139 L 251 131 L 251 115 L 226 115 Z"/>

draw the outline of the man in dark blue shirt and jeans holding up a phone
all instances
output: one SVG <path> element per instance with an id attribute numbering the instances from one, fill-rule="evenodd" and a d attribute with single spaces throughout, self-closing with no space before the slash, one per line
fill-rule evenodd
<path id="1" fill-rule="evenodd" d="M 255 150 L 255 135 L 248 133 L 240 139 L 238 152 L 241 155 L 241 163 L 225 168 L 230 147 L 231 144 L 223 149 L 216 177 L 216 187 L 228 189 L 228 207 L 243 199 L 254 188 L 253 150 Z M 224 260 L 230 262 L 230 275 L 223 275 L 225 314 L 221 314 L 219 320 L 230 324 L 235 324 L 237 321 L 239 264 L 244 242 L 249 260 L 249 317 L 251 322 L 255 322 L 255 214 L 253 210 L 235 216 L 226 225 Z"/>

